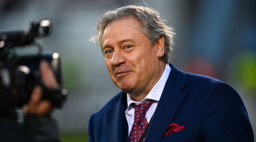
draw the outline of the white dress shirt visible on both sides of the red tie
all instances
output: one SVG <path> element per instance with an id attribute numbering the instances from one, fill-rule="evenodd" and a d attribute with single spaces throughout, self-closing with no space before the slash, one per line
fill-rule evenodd
<path id="1" fill-rule="evenodd" d="M 141 103 L 146 102 L 149 99 L 155 100 L 154 103 L 149 107 L 149 110 L 147 111 L 146 116 L 145 116 L 147 121 L 149 122 L 155 112 L 156 106 L 157 106 L 159 99 L 162 95 L 165 83 L 168 79 L 170 72 L 171 72 L 171 67 L 168 64 L 166 64 L 161 78 L 157 81 L 155 86 L 151 89 L 151 91 L 148 93 L 148 95 L 141 102 L 136 102 L 133 98 L 131 98 L 131 96 L 129 94 L 127 94 L 127 106 L 128 107 L 125 110 L 125 116 L 126 116 L 126 120 L 128 123 L 128 135 L 131 132 L 131 127 L 134 122 L 134 108 L 132 107 L 131 104 L 132 103 L 141 104 Z"/>

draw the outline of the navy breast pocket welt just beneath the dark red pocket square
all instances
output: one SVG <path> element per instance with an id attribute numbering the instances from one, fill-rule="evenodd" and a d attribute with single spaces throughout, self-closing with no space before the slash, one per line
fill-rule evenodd
<path id="1" fill-rule="evenodd" d="M 176 142 L 176 141 L 179 141 L 182 139 L 192 137 L 193 133 L 194 133 L 194 127 L 188 128 L 188 129 L 176 132 L 176 133 L 172 133 L 168 136 L 165 136 L 160 140 L 160 142 Z"/>

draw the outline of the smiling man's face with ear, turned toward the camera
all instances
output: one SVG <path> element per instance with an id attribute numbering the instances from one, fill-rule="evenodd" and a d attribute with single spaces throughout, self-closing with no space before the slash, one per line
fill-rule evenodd
<path id="1" fill-rule="evenodd" d="M 105 64 L 116 86 L 135 96 L 149 93 L 161 77 L 158 45 L 151 46 L 133 17 L 113 21 L 102 37 Z"/>

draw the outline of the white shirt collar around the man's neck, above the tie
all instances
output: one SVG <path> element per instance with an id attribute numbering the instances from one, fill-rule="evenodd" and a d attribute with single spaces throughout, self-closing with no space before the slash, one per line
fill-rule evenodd
<path id="1" fill-rule="evenodd" d="M 166 64 L 161 78 L 157 81 L 155 86 L 151 89 L 151 91 L 148 93 L 148 95 L 141 102 L 136 102 L 133 98 L 131 98 L 131 96 L 129 94 L 127 94 L 128 108 L 130 108 L 129 106 L 132 103 L 141 104 L 141 103 L 144 103 L 148 99 L 159 101 L 170 72 L 171 72 L 171 67 L 168 64 Z"/>

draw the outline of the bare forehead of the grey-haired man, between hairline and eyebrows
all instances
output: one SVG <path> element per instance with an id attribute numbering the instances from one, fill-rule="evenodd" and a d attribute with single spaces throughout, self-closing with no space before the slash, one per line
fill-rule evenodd
<path id="1" fill-rule="evenodd" d="M 134 17 L 126 17 L 107 25 L 102 34 L 102 45 L 138 38 L 141 34 L 144 34 L 141 23 Z"/>

